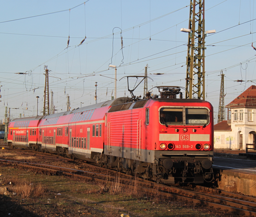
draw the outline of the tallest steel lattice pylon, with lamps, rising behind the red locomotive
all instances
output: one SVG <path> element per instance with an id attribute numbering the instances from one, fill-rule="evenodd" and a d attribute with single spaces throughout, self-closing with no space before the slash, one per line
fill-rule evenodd
<path id="1" fill-rule="evenodd" d="M 197 29 L 196 29 L 197 26 Z M 204 0 L 190 0 L 186 99 L 205 99 Z"/>

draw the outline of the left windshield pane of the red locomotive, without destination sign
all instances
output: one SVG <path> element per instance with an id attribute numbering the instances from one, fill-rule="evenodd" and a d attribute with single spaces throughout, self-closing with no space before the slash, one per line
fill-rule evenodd
<path id="1" fill-rule="evenodd" d="M 182 108 L 161 108 L 160 123 L 163 125 L 183 124 L 183 109 Z"/>

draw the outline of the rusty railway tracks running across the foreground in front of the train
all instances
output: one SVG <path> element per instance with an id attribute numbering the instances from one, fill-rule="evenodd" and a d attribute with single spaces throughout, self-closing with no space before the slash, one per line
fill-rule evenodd
<path id="1" fill-rule="evenodd" d="M 36 153 L 37 154 L 37 153 Z M 38 153 L 39 154 L 39 153 Z M 41 153 L 40 153 L 41 154 Z M 2 158 L 2 157 L 1 157 Z M 58 159 L 57 160 L 63 160 Z M 69 159 L 70 161 L 70 159 Z M 89 181 L 99 181 L 106 182 L 112 181 L 116 182 L 119 180 L 119 185 L 126 187 L 129 185 L 136 185 L 142 191 L 149 193 L 156 193 L 165 196 L 166 198 L 172 198 L 174 200 L 182 200 L 185 203 L 193 204 L 194 206 L 207 206 L 211 209 L 215 209 L 219 213 L 235 213 L 236 215 L 243 216 L 255 216 L 256 217 L 256 199 L 249 196 L 244 196 L 236 193 L 226 192 L 218 189 L 207 188 L 202 186 L 197 186 L 195 190 L 184 189 L 174 186 L 166 186 L 157 184 L 148 180 L 143 180 L 141 178 L 136 178 L 134 180 L 133 176 L 119 173 L 106 168 L 101 168 L 91 164 L 86 164 L 88 167 L 104 169 L 109 172 L 108 175 L 88 172 L 77 169 L 70 169 L 46 164 L 39 164 L 35 162 L 22 162 L 15 159 L 2 159 L 0 164 L 9 164 L 12 166 L 33 168 L 36 171 L 46 173 L 48 175 L 68 175 L 72 177 L 79 177 L 87 179 Z M 85 164 L 85 163 L 83 163 Z M 118 178 L 117 178 L 118 177 Z"/>

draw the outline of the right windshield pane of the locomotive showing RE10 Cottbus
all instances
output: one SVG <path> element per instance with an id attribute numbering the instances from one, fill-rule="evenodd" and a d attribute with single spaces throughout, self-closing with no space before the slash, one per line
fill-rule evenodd
<path id="1" fill-rule="evenodd" d="M 186 124 L 206 125 L 209 123 L 209 112 L 206 108 L 186 108 Z"/>

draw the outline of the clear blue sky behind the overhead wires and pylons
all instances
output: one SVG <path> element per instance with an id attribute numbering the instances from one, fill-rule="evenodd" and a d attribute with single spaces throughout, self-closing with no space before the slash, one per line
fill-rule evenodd
<path id="1" fill-rule="evenodd" d="M 185 87 L 188 34 L 180 29 L 188 28 L 189 3 L 189 0 L 90 0 L 84 5 L 76 0 L 1 1 L 1 119 L 5 106 L 11 108 L 12 118 L 20 113 L 36 115 L 36 96 L 40 97 L 41 114 L 45 65 L 51 70 L 49 90 L 54 92 L 57 112 L 67 109 L 67 94 L 71 109 L 81 103 L 94 104 L 95 82 L 98 82 L 98 102 L 110 100 L 112 91 L 114 95 L 114 79 L 111 79 L 114 69 L 108 70 L 111 58 L 111 64 L 118 66 L 117 97 L 130 96 L 127 80 L 119 80 L 127 75 L 144 75 L 147 64 L 148 75 L 153 79 L 148 80 L 149 89 L 156 85 Z M 256 18 L 254 3 L 205 0 L 205 29 L 216 29 L 216 34 L 208 34 L 205 40 L 205 90 L 216 117 L 221 70 L 225 74 L 225 105 L 256 82 L 256 51 L 251 47 L 252 42 L 256 47 L 256 22 L 250 21 Z M 69 11 L 70 8 L 73 9 Z M 122 29 L 122 50 L 121 30 L 115 27 Z M 78 46 L 85 36 L 83 44 Z M 15 74 L 18 72 L 28 74 Z M 142 82 L 135 95 L 143 94 L 143 85 Z"/>

